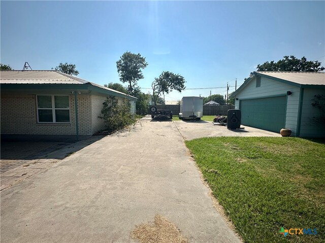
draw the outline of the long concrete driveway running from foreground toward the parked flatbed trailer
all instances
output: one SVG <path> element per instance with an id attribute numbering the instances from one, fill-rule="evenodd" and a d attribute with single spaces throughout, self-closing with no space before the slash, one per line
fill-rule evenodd
<path id="1" fill-rule="evenodd" d="M 136 225 L 163 215 L 192 242 L 240 242 L 172 121 L 92 143 L 1 191 L 1 242 L 137 242 Z"/>

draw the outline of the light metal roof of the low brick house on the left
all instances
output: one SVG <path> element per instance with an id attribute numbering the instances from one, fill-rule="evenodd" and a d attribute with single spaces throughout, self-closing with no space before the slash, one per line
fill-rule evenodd
<path id="1" fill-rule="evenodd" d="M 91 83 L 87 80 L 62 73 L 56 70 L 1 70 L 0 71 L 0 84 L 62 84 L 62 85 L 84 85 L 89 84 L 94 87 L 98 87 L 103 90 L 114 92 L 125 97 L 133 97 L 126 95 L 122 92 Z"/>

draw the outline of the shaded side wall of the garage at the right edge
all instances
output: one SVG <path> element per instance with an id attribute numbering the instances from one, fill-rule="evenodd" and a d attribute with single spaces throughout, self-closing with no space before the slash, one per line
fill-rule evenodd
<path id="1" fill-rule="evenodd" d="M 302 106 L 300 137 L 325 137 L 325 127 L 316 123 L 312 118 L 320 115 L 320 110 L 311 103 L 314 95 L 324 94 L 324 89 L 305 89 Z"/>

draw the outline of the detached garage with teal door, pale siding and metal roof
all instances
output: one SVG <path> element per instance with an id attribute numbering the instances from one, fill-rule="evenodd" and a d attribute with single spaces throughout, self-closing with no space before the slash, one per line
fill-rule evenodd
<path id="1" fill-rule="evenodd" d="M 325 137 L 325 125 L 313 107 L 315 95 L 325 96 L 323 72 L 255 71 L 232 95 L 242 112 L 242 125 L 297 137 Z"/>

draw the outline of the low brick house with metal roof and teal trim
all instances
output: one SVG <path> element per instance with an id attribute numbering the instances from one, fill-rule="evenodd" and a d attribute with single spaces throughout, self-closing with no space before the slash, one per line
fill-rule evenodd
<path id="1" fill-rule="evenodd" d="M 2 138 L 85 138 L 103 130 L 103 102 L 133 96 L 59 71 L 0 72 Z"/>

